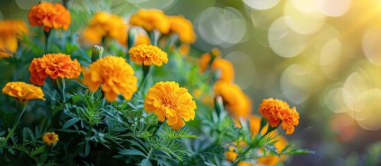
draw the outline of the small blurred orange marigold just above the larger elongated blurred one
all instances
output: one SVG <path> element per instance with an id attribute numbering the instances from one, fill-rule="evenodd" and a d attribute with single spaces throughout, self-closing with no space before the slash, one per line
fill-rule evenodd
<path id="1" fill-rule="evenodd" d="M 215 58 L 210 66 L 212 71 L 219 71 L 219 79 L 227 82 L 234 80 L 234 68 L 232 63 L 226 59 Z"/>

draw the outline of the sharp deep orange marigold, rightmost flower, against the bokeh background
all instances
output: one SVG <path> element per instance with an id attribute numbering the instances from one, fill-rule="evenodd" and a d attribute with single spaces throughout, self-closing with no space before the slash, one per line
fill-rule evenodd
<path id="1" fill-rule="evenodd" d="M 290 109 L 289 104 L 282 100 L 273 98 L 264 99 L 258 110 L 269 122 L 271 127 L 281 127 L 286 130 L 286 134 L 294 132 L 294 127 L 299 123 L 299 113 L 295 107 Z"/>

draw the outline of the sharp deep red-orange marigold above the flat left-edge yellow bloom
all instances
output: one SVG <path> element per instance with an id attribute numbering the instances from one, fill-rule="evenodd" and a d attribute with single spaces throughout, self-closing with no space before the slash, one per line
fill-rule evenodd
<path id="1" fill-rule="evenodd" d="M 42 86 L 46 77 L 53 80 L 56 80 L 57 77 L 78 77 L 81 75 L 81 64 L 77 59 L 71 60 L 70 55 L 51 53 L 33 58 L 29 71 L 31 72 L 31 82 Z"/>

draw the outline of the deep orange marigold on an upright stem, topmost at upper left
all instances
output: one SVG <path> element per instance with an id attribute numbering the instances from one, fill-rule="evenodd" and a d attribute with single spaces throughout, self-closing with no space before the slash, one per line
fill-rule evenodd
<path id="1" fill-rule="evenodd" d="M 44 26 L 49 32 L 50 28 L 63 28 L 67 30 L 71 24 L 70 12 L 61 3 L 42 2 L 32 6 L 28 12 L 28 20 L 31 26 Z"/>

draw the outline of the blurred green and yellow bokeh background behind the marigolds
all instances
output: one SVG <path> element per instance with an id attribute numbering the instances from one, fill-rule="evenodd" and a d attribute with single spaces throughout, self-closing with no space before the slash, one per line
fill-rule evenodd
<path id="1" fill-rule="evenodd" d="M 0 1 L 0 19 L 27 22 L 35 3 Z M 198 36 L 192 48 L 222 51 L 235 67 L 235 83 L 251 98 L 253 113 L 264 98 L 285 100 L 299 111 L 300 124 L 287 138 L 316 154 L 293 156 L 286 165 L 351 165 L 368 160 L 370 146 L 381 140 L 379 0 L 65 3 L 73 10 L 107 10 L 126 20 L 139 8 L 158 8 L 191 20 Z"/>

